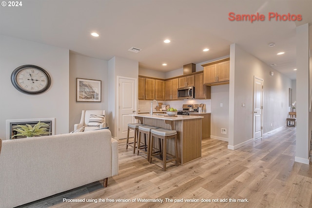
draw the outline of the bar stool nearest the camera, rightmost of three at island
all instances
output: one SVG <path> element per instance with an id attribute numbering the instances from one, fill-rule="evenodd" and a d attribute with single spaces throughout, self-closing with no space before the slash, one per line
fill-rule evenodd
<path id="1" fill-rule="evenodd" d="M 179 166 L 176 130 L 152 129 L 151 134 L 152 134 L 151 135 L 152 138 L 151 138 L 151 147 L 150 147 L 150 163 L 152 163 L 153 158 L 162 162 L 163 171 L 166 171 L 166 164 L 172 161 L 176 161 L 176 166 Z M 162 141 L 162 150 L 159 150 L 159 152 L 153 152 L 154 137 L 161 139 Z M 175 139 L 175 155 L 171 155 L 167 153 L 167 139 Z M 159 147 L 159 149 L 161 149 L 161 147 Z M 156 157 L 157 155 L 161 156 L 161 153 L 162 153 L 162 160 Z M 167 154 L 172 156 L 173 158 L 167 160 Z"/>

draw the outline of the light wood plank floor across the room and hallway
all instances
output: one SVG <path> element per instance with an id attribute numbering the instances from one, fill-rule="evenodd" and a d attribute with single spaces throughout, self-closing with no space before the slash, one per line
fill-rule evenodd
<path id="1" fill-rule="evenodd" d="M 49 207 L 76 197 L 164 202 L 65 202 L 53 208 L 312 208 L 312 165 L 294 162 L 295 130 L 279 128 L 235 151 L 227 142 L 205 139 L 202 158 L 179 167 L 169 164 L 166 172 L 125 150 L 125 140 L 119 140 L 119 175 L 108 179 L 107 188 L 95 182 L 23 207 Z M 174 203 L 179 199 L 199 202 Z"/>

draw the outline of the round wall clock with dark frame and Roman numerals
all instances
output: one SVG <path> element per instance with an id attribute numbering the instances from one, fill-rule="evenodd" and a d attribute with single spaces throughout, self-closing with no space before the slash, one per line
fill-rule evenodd
<path id="1" fill-rule="evenodd" d="M 12 72 L 11 81 L 18 91 L 30 95 L 43 93 L 51 85 L 50 75 L 35 65 L 23 65 L 16 68 Z"/>

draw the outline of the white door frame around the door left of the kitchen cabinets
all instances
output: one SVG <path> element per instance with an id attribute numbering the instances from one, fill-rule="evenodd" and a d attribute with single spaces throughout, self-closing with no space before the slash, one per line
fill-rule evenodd
<path id="1" fill-rule="evenodd" d="M 116 84 L 116 88 L 117 88 L 117 94 L 116 94 L 116 126 L 115 128 L 117 128 L 117 139 L 119 140 L 119 106 L 120 106 L 120 100 L 119 100 L 119 85 L 120 85 L 120 79 L 130 79 L 130 80 L 134 80 L 135 81 L 135 111 L 137 112 L 137 78 L 133 78 L 133 77 L 126 77 L 126 76 L 117 76 L 117 84 Z"/>

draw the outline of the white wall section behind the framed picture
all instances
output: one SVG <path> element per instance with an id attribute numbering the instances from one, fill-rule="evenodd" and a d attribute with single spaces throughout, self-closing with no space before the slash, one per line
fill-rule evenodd
<path id="1" fill-rule="evenodd" d="M 101 80 L 101 102 L 76 102 L 76 78 Z M 82 110 L 106 110 L 106 123 L 109 123 L 108 111 L 108 61 L 69 54 L 69 132 L 79 123 Z"/>

